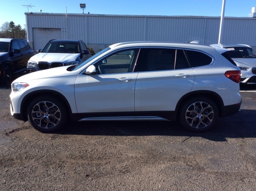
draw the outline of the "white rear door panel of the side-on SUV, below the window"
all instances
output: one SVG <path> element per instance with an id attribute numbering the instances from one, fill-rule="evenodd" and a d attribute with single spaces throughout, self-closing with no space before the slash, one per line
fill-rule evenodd
<path id="1" fill-rule="evenodd" d="M 135 111 L 174 111 L 194 84 L 193 69 L 141 72 L 135 86 Z"/>

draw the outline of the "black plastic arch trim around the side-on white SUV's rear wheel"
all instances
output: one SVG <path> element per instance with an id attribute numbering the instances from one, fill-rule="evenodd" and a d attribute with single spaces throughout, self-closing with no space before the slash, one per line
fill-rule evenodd
<path id="1" fill-rule="evenodd" d="M 223 103 L 223 100 L 220 95 L 218 95 L 217 93 L 212 92 L 212 91 L 194 91 L 194 92 L 190 92 L 180 98 L 180 100 L 178 101 L 178 103 L 176 105 L 175 118 L 177 119 L 178 113 L 180 112 L 180 108 L 181 108 L 184 100 L 188 100 L 188 99 L 198 97 L 198 96 L 205 96 L 205 97 L 213 100 L 218 107 L 219 116 L 222 116 L 222 108 L 224 107 L 224 103 Z"/>

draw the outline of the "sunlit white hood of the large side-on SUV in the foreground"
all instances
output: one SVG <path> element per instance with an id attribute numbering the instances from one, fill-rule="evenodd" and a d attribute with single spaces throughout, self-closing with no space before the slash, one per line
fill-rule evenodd
<path id="1" fill-rule="evenodd" d="M 69 71 L 67 71 L 68 67 L 69 66 L 62 66 L 62 67 L 56 67 L 56 68 L 51 68 L 47 70 L 32 72 L 17 78 L 16 80 L 13 81 L 13 83 L 26 82 L 26 81 L 35 80 L 35 79 L 43 79 L 48 77 L 64 75 L 65 73 L 70 73 Z"/>

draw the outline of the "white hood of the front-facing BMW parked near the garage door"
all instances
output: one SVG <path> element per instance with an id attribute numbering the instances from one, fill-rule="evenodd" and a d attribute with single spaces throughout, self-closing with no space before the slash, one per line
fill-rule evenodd
<path id="1" fill-rule="evenodd" d="M 80 53 L 38 53 L 30 58 L 31 61 L 34 62 L 72 62 L 76 61 L 76 59 L 80 56 Z"/>

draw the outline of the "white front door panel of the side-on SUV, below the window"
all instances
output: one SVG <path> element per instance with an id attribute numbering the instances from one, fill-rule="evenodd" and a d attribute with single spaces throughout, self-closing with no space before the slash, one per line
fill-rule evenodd
<path id="1" fill-rule="evenodd" d="M 79 75 L 75 83 L 78 113 L 134 112 L 138 73 Z"/>

